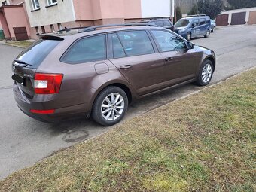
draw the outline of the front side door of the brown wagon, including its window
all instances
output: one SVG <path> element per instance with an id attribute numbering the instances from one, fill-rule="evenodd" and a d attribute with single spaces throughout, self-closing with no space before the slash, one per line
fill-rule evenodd
<path id="1" fill-rule="evenodd" d="M 187 49 L 185 41 L 172 32 L 151 29 L 151 35 L 163 56 L 165 62 L 163 78 L 169 85 L 196 78 L 197 52 L 194 49 Z"/>

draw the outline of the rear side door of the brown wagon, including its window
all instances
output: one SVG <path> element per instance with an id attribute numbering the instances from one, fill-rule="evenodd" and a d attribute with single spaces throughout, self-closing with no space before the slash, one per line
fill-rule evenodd
<path id="1" fill-rule="evenodd" d="M 110 61 L 139 95 L 159 90 L 164 81 L 164 62 L 145 30 L 108 34 L 113 51 Z M 110 50 L 111 51 L 111 50 Z"/>

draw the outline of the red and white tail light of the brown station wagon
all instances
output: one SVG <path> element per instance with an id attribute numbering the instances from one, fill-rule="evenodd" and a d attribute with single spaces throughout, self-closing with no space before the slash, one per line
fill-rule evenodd
<path id="1" fill-rule="evenodd" d="M 62 74 L 35 73 L 35 94 L 59 93 L 62 78 Z"/>

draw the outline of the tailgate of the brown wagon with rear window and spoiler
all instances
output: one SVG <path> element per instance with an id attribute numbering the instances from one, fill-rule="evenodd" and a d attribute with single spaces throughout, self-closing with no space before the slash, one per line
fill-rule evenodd
<path id="1" fill-rule="evenodd" d="M 12 63 L 14 83 L 19 90 L 29 99 L 35 94 L 34 79 L 35 72 L 47 57 L 47 55 L 62 41 L 63 38 L 47 35 L 39 38 L 30 47 L 23 50 Z"/>

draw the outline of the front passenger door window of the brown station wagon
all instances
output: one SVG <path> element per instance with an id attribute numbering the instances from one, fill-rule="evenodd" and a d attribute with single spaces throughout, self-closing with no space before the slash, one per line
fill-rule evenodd
<path id="1" fill-rule="evenodd" d="M 184 41 L 171 32 L 165 32 L 161 30 L 151 30 L 151 32 L 157 41 L 160 52 L 184 50 L 187 48 Z"/>

